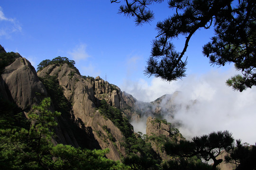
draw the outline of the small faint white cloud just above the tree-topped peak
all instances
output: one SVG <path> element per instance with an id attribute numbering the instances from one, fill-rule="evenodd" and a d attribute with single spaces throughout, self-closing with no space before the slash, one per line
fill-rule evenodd
<path id="1" fill-rule="evenodd" d="M 72 52 L 68 52 L 68 54 L 75 62 L 85 60 L 90 57 L 90 55 L 86 51 L 86 46 L 86 44 L 80 44 L 76 46 Z"/>

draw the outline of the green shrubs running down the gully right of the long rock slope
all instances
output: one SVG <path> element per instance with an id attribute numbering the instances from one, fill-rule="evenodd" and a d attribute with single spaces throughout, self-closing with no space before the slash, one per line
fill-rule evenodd
<path id="1" fill-rule="evenodd" d="M 125 142 L 121 145 L 126 149 L 127 156 L 124 158 L 124 163 L 126 165 L 131 169 L 137 167 L 140 170 L 146 170 L 148 167 L 154 168 L 155 164 L 159 163 L 159 159 L 152 149 L 151 144 L 146 143 L 141 136 L 136 137 L 134 135 L 133 127 L 128 122 L 128 119 L 122 115 L 122 112 L 119 109 L 111 107 L 105 100 L 101 100 L 99 111 L 102 115 L 110 119 L 125 136 Z M 110 130 L 107 127 L 104 126 L 102 128 L 105 129 L 107 133 L 110 133 Z M 137 154 L 140 156 L 136 156 Z M 138 158 L 138 160 L 134 159 L 135 157 L 136 159 Z"/>

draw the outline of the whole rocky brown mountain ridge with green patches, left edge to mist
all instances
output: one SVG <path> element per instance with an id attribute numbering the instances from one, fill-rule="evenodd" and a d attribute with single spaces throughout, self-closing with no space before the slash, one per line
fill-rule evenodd
<path id="1" fill-rule="evenodd" d="M 138 156 L 144 166 L 154 167 L 172 160 L 164 151 L 165 142 L 185 140 L 176 124 L 162 119 L 166 112 L 174 115 L 179 107 L 174 99 L 180 92 L 140 102 L 100 76 L 82 76 L 73 60 L 57 57 L 38 66 L 36 71 L 27 59 L 0 46 L 0 112 L 12 117 L 15 126 L 29 126 L 23 121 L 33 106 L 50 97 L 50 111 L 61 112 L 55 118 L 56 136 L 51 140 L 55 145 L 109 148 L 105 156 L 111 160 L 130 162 Z M 16 119 L 19 113 L 22 118 Z M 129 122 L 143 117 L 147 118 L 146 134 L 135 133 Z"/>

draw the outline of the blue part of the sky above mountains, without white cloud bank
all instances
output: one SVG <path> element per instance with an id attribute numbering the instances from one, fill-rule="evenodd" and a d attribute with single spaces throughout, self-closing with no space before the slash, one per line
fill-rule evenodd
<path id="1" fill-rule="evenodd" d="M 117 14 L 119 4 L 110 0 L 2 0 L 0 7 L 7 18 L 0 21 L 0 43 L 6 51 L 19 52 L 35 68 L 44 59 L 68 57 L 82 75 L 107 74 L 108 81 L 119 86 L 127 78 L 146 78 L 143 70 L 157 35 L 156 22 L 172 14 L 165 3 L 154 4 L 155 20 L 135 26 L 133 18 Z M 188 74 L 211 69 L 201 55 L 211 34 L 202 30 L 192 38 Z M 176 41 L 177 49 L 183 42 Z"/>

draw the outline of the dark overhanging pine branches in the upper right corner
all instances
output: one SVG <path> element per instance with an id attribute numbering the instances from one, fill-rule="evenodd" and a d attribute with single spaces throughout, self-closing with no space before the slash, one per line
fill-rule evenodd
<path id="1" fill-rule="evenodd" d="M 125 0 L 119 13 L 135 17 L 136 25 L 150 22 L 154 13 L 148 7 L 163 0 Z M 113 2 L 120 2 L 111 0 Z M 174 15 L 156 25 L 158 34 L 152 42 L 145 75 L 172 81 L 185 76 L 184 54 L 192 35 L 199 29 L 214 28 L 215 36 L 203 46 L 203 55 L 212 65 L 231 62 L 241 70 L 227 80 L 240 92 L 256 85 L 256 1 L 255 0 L 168 0 Z M 168 14 L 166 14 L 168 16 Z M 173 38 L 185 36 L 183 51 L 175 51 Z"/>

